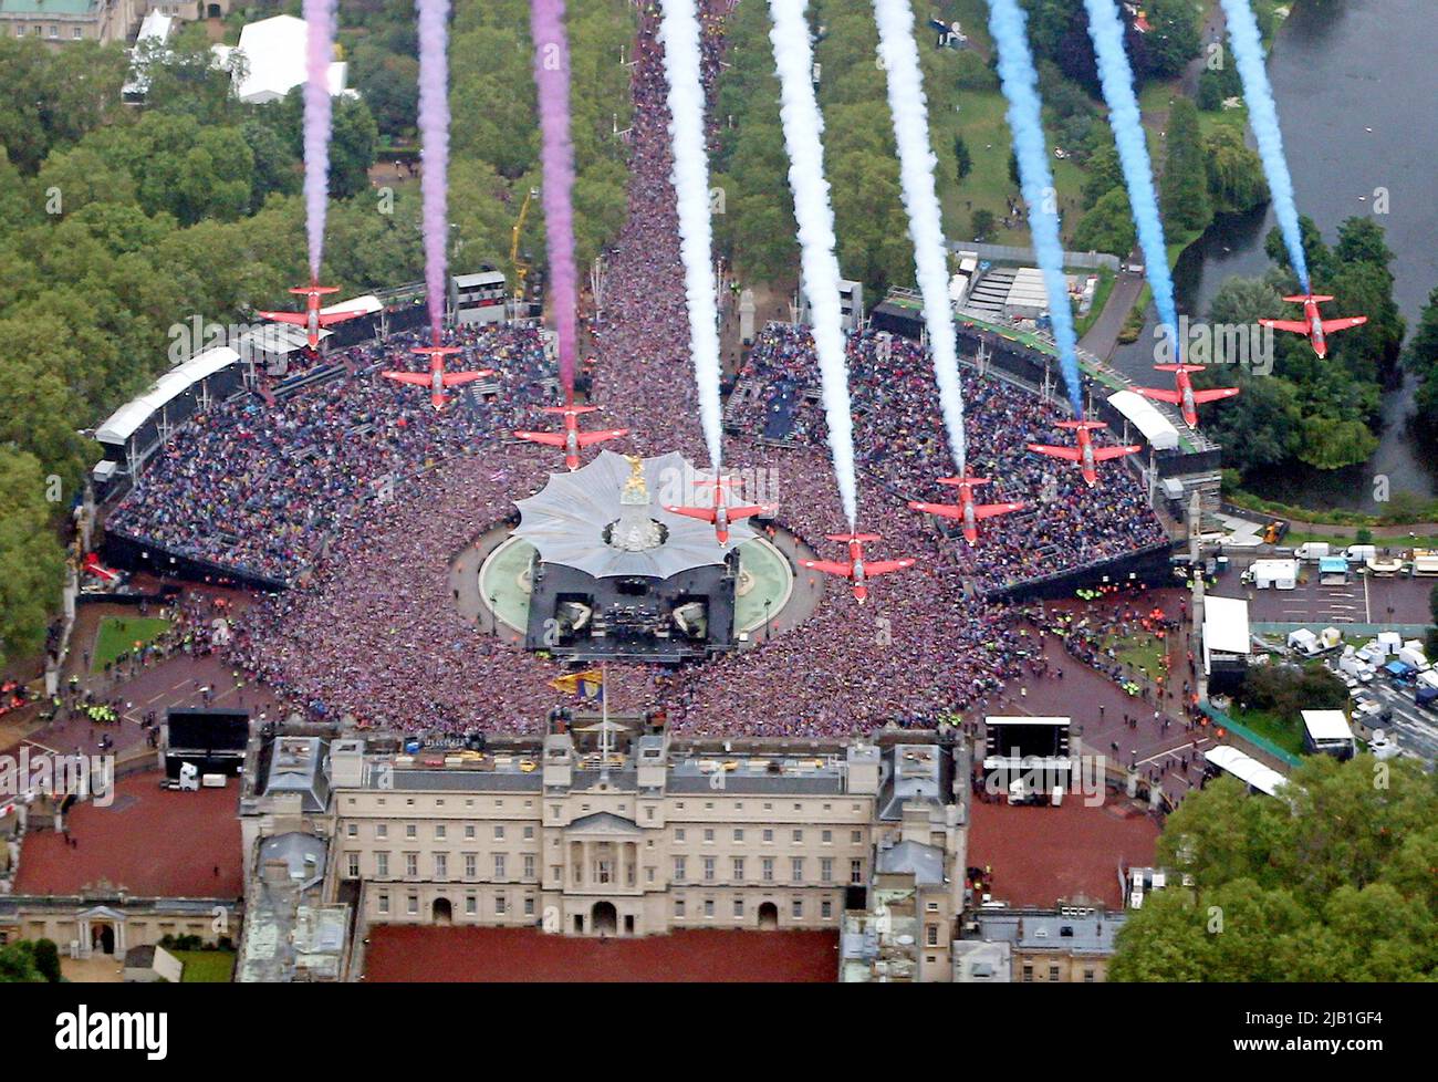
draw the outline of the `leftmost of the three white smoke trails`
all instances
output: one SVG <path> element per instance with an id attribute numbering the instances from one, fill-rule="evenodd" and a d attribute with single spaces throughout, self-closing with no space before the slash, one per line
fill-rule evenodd
<path id="1" fill-rule="evenodd" d="M 669 135 L 674 163 L 670 178 L 679 212 L 679 256 L 684 265 L 689 306 L 689 354 L 699 388 L 699 420 L 709 445 L 709 465 L 723 456 L 719 399 L 719 302 L 713 270 L 713 227 L 709 220 L 709 154 L 705 145 L 705 89 L 695 0 L 663 0 L 659 39 L 669 76 Z"/>

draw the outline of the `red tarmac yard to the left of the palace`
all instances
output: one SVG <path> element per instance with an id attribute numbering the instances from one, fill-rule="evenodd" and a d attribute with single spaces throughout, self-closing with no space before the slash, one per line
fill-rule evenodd
<path id="1" fill-rule="evenodd" d="M 73 895 L 105 879 L 144 898 L 237 898 L 237 784 L 171 793 L 158 773 L 121 778 L 112 806 L 83 801 L 69 813 L 75 847 L 53 830 L 26 835 L 14 892 Z"/>

